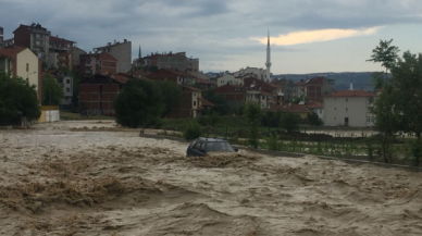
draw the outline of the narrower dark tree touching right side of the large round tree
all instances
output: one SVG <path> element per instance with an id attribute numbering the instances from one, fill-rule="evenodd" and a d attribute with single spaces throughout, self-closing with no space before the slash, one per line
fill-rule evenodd
<path id="1" fill-rule="evenodd" d="M 156 82 L 161 89 L 164 102 L 162 116 L 177 110 L 182 104 L 182 87 L 170 80 Z"/>

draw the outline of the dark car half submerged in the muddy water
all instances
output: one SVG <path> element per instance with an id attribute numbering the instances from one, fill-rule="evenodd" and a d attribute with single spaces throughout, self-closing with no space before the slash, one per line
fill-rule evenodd
<path id="1" fill-rule="evenodd" d="M 203 157 L 208 152 L 236 152 L 232 145 L 222 138 L 197 138 L 187 148 L 187 157 Z"/>

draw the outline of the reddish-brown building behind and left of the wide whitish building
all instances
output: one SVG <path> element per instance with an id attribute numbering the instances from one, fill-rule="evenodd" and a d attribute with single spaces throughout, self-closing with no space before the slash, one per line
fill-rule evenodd
<path id="1" fill-rule="evenodd" d="M 325 77 L 313 77 L 308 80 L 300 80 L 296 83 L 294 89 L 294 97 L 307 97 L 311 101 L 322 102 L 324 96 L 334 91 L 334 80 Z"/>

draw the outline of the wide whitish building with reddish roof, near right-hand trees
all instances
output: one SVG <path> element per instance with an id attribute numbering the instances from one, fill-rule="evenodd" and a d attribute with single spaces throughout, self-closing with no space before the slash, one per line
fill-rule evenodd
<path id="1" fill-rule="evenodd" d="M 324 125 L 368 127 L 374 125 L 372 112 L 375 94 L 340 90 L 324 97 Z"/>

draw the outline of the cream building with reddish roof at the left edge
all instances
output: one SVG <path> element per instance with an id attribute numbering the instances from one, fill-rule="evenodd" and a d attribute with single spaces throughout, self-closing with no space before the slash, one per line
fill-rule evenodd
<path id="1" fill-rule="evenodd" d="M 14 47 L 0 49 L 0 73 L 11 73 L 35 85 L 38 101 L 41 103 L 41 61 L 28 48 Z"/>

